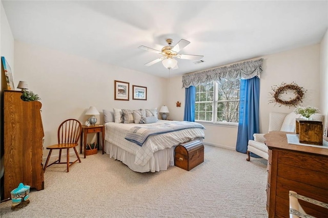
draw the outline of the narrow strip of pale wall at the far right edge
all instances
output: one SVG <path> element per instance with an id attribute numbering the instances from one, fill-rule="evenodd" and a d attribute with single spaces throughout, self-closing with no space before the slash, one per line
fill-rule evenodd
<path id="1" fill-rule="evenodd" d="M 320 44 L 320 108 L 328 123 L 328 30 Z"/>

